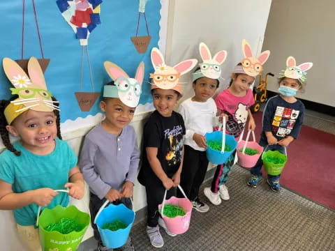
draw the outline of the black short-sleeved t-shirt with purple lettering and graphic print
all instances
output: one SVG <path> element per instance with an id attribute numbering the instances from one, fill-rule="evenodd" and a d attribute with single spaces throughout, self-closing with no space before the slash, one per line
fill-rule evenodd
<path id="1" fill-rule="evenodd" d="M 172 177 L 180 167 L 183 153 L 183 136 L 186 130 L 182 116 L 172 112 L 172 116 L 164 117 L 154 111 L 144 125 L 142 167 L 138 180 L 143 185 L 154 174 L 147 159 L 146 148 L 157 147 L 157 158 L 168 177 Z"/>

